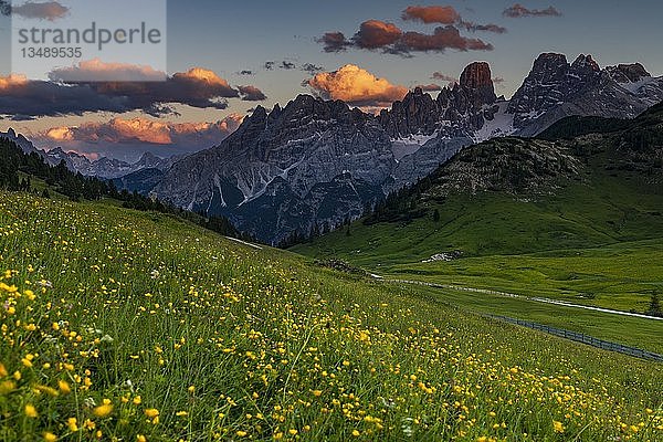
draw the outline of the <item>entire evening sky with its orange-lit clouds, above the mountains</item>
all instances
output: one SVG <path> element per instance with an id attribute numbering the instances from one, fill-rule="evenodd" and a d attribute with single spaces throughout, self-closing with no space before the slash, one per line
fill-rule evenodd
<path id="1" fill-rule="evenodd" d="M 66 13 L 70 1 L 49 1 L 46 13 Z M 490 63 L 496 92 L 507 98 L 543 52 L 569 61 L 589 53 L 601 66 L 640 62 L 663 75 L 661 17 L 656 0 L 170 0 L 168 80 L 143 84 L 139 95 L 126 84 L 23 81 L 2 45 L 0 130 L 13 127 L 38 147 L 134 160 L 147 150 L 169 156 L 211 147 L 256 105 L 283 106 L 302 93 L 369 110 L 418 85 L 434 95 L 473 61 Z M 10 35 L 10 19 L 0 17 L 0 39 Z M 76 72 L 93 67 L 128 69 L 83 60 Z"/>

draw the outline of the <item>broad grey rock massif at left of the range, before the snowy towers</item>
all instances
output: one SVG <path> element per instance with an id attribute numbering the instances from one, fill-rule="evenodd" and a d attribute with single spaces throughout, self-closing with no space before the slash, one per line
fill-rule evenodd
<path id="1" fill-rule="evenodd" d="M 256 108 L 221 145 L 177 162 L 155 192 L 278 242 L 358 215 L 392 189 L 396 165 L 373 116 L 299 95 L 284 108 Z"/>

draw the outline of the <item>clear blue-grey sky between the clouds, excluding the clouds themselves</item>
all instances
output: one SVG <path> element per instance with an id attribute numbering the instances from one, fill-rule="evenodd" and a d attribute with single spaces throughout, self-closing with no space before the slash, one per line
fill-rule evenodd
<path id="1" fill-rule="evenodd" d="M 22 0 L 21 0 L 22 1 Z M 21 2 L 19 1 L 19 3 Z M 41 0 L 34 0 L 41 1 Z M 99 0 L 101 1 L 101 0 Z M 66 0 L 61 0 L 66 4 Z M 571 61 L 580 53 L 590 53 L 601 64 L 641 62 L 652 74 L 663 74 L 660 42 L 663 31 L 660 18 L 663 3 L 655 0 L 622 2 L 523 0 L 530 10 L 554 7 L 560 17 L 508 18 L 503 11 L 514 1 L 456 0 L 456 1 L 385 1 L 334 0 L 287 2 L 266 0 L 168 1 L 168 71 L 187 72 L 204 67 L 228 81 L 232 87 L 252 85 L 267 99 L 265 107 L 278 102 L 287 103 L 299 93 L 311 92 L 302 83 L 311 74 L 301 69 L 305 63 L 320 66 L 325 72 L 337 71 L 354 64 L 390 84 L 411 88 L 435 82 L 434 72 L 457 77 L 463 67 L 473 61 L 487 61 L 493 76 L 504 78 L 496 85 L 497 93 L 509 97 L 520 85 L 541 52 L 565 53 Z M 451 6 L 463 20 L 476 23 L 495 23 L 506 28 L 505 33 L 466 32 L 462 35 L 493 45 L 492 51 L 411 52 L 410 57 L 349 48 L 345 52 L 327 53 L 316 42 L 326 32 L 343 32 L 351 38 L 362 22 L 379 20 L 393 23 L 403 31 L 432 33 L 440 24 L 403 21 L 401 13 L 411 6 Z M 0 19 L 0 36 L 9 38 L 9 20 Z M 4 49 L 6 54 L 7 49 Z M 2 56 L 0 72 L 11 71 Z M 296 69 L 266 70 L 265 62 L 293 63 Z M 252 75 L 240 75 L 240 71 Z M 436 81 L 441 85 L 444 82 Z M 158 118 L 168 122 L 218 122 L 231 114 L 244 115 L 256 102 L 229 99 L 227 108 L 204 108 L 178 105 L 178 114 Z M 40 134 L 49 127 L 77 126 L 85 122 L 104 122 L 113 117 L 151 118 L 136 108 L 114 114 L 87 112 L 83 116 L 43 116 L 32 122 L 0 120 L 0 128 L 9 126 L 29 134 Z M 154 116 L 152 116 L 154 117 Z"/>

